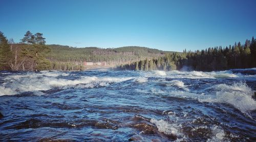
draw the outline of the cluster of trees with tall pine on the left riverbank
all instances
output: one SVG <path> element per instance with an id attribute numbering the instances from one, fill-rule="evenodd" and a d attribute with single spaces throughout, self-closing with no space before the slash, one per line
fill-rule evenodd
<path id="1" fill-rule="evenodd" d="M 0 69 L 37 71 L 51 67 L 46 59 L 50 49 L 41 33 L 28 31 L 18 44 L 14 44 L 13 39 L 7 40 L 2 32 L 0 39 Z"/>

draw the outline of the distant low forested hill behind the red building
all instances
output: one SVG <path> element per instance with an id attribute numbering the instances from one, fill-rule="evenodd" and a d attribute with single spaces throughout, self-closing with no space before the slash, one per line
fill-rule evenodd
<path id="1" fill-rule="evenodd" d="M 65 45 L 49 45 L 51 52 L 47 55 L 50 61 L 55 62 L 100 62 L 108 64 L 122 64 L 142 60 L 144 58 L 157 58 L 166 52 L 140 46 L 125 46 L 121 48 L 101 49 L 96 47 L 72 48 Z"/>

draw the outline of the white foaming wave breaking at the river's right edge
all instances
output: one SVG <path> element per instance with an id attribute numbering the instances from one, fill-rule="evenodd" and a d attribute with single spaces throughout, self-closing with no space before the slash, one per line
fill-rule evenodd
<path id="1" fill-rule="evenodd" d="M 206 93 L 193 93 L 186 91 L 172 91 L 170 96 L 195 99 L 199 102 L 226 103 L 236 107 L 241 112 L 248 114 L 248 111 L 256 109 L 256 101 L 252 98 L 254 92 L 246 83 L 239 82 L 231 85 L 218 84 L 205 89 Z M 165 92 L 166 93 L 166 92 Z M 248 116 L 250 116 L 248 114 Z"/>

